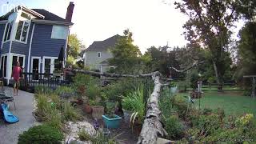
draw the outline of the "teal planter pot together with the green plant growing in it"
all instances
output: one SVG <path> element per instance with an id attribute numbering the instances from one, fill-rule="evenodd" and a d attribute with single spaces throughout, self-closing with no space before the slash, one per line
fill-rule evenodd
<path id="1" fill-rule="evenodd" d="M 116 129 L 120 126 L 121 117 L 114 114 L 115 103 L 106 102 L 106 115 L 102 115 L 103 122 L 107 128 Z"/>

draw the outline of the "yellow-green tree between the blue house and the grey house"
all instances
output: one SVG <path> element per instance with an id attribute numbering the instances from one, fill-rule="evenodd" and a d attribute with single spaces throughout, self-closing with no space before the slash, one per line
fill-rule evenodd
<path id="1" fill-rule="evenodd" d="M 74 65 L 78 59 L 82 58 L 82 52 L 86 46 L 78 39 L 77 34 L 70 34 L 68 40 L 67 63 Z"/>

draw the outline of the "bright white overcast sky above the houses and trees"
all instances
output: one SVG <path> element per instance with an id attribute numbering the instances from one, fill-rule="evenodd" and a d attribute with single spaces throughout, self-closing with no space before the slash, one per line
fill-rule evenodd
<path id="1" fill-rule="evenodd" d="M 182 25 L 187 18 L 174 7 L 174 0 L 0 0 L 0 15 L 22 5 L 49 10 L 66 18 L 74 2 L 70 33 L 86 47 L 129 29 L 142 53 L 150 46 L 185 46 Z"/>

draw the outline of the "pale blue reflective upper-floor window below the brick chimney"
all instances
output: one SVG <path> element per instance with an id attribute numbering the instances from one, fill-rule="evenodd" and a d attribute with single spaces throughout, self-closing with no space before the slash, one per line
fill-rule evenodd
<path id="1" fill-rule="evenodd" d="M 51 38 L 66 39 L 67 34 L 68 34 L 67 26 L 53 26 L 53 30 L 51 31 Z"/>

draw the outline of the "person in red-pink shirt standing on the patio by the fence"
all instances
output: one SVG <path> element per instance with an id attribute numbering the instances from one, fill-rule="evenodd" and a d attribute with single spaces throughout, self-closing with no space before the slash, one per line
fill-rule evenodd
<path id="1" fill-rule="evenodd" d="M 13 73 L 11 74 L 11 76 L 14 77 L 14 95 L 18 95 L 19 78 L 21 77 L 21 74 L 22 68 L 20 67 L 19 62 L 17 62 L 16 66 L 14 66 Z"/>

